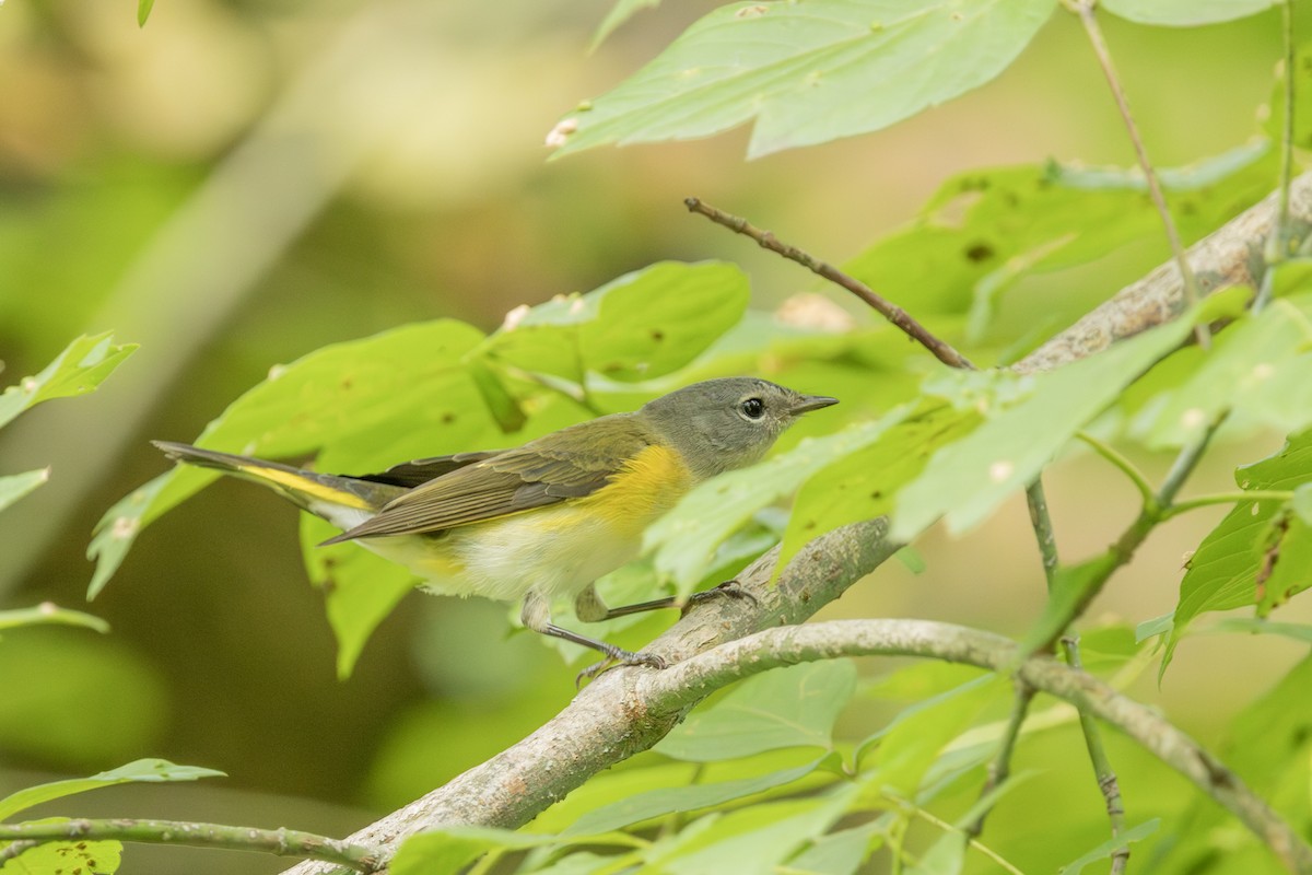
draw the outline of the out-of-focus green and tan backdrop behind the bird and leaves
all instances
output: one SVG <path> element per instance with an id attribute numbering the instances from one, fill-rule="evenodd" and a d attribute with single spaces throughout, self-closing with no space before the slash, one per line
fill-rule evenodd
<path id="1" fill-rule="evenodd" d="M 744 131 L 546 160 L 562 114 L 711 7 L 644 12 L 592 55 L 607 9 L 597 0 L 159 0 L 144 29 L 126 0 L 0 7 L 0 382 L 39 370 L 81 332 L 142 344 L 96 396 L 45 405 L 0 434 L 4 471 L 52 466 L 51 483 L 0 518 L 0 607 L 84 606 L 92 525 L 167 464 L 147 441 L 194 438 L 273 365 L 324 344 L 438 316 L 489 331 L 512 307 L 664 258 L 741 264 L 760 308 L 817 289 L 689 216 L 686 195 L 841 261 L 954 172 L 1131 160 L 1065 14 L 1000 80 L 882 134 L 750 164 Z M 1253 134 L 1279 54 L 1274 12 L 1106 29 L 1160 165 Z M 1021 317 L 1069 321 L 1114 291 L 1094 272 Z M 913 294 L 899 303 L 914 312 Z M 1223 446 L 1198 485 L 1229 487 L 1236 462 L 1274 446 L 1275 436 Z M 1068 556 L 1105 546 L 1132 513 L 1132 489 L 1107 495 L 1107 481 L 1088 458 L 1055 470 Z M 1166 526 L 1094 615 L 1170 610 L 1183 552 L 1219 516 Z M 1015 632 L 1042 606 L 1030 539 L 1015 501 L 962 540 L 930 534 L 924 575 L 891 563 L 825 615 Z M 569 699 L 576 670 L 508 638 L 501 606 L 412 596 L 338 682 L 295 514 L 241 483 L 152 526 L 89 610 L 110 635 L 35 628 L 0 641 L 0 794 L 144 756 L 230 778 L 106 791 L 50 813 L 345 833 L 538 725 Z M 1242 666 L 1298 655 L 1269 638 L 1191 639 L 1160 690 L 1145 680 L 1135 693 L 1215 741 L 1260 691 Z M 878 716 L 853 715 L 853 733 Z M 131 871 L 281 868 L 207 851 L 130 859 Z"/>

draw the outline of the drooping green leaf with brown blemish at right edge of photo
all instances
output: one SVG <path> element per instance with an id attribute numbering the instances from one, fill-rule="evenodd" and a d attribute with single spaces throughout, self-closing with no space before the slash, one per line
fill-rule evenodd
<path id="1" fill-rule="evenodd" d="M 1274 455 L 1236 468 L 1241 489 L 1294 489 L 1312 483 L 1312 432 L 1294 436 Z M 1274 538 L 1273 538 L 1274 535 Z M 1208 611 L 1231 610 L 1287 597 L 1307 588 L 1305 567 L 1312 529 L 1279 501 L 1244 501 L 1198 546 L 1179 581 L 1173 627 L 1158 674 L 1164 674 L 1189 623 Z M 1288 551 L 1292 561 L 1283 561 Z M 1270 561 L 1260 598 L 1258 573 Z M 1283 565 L 1283 568 L 1282 568 Z M 1266 596 L 1270 598 L 1266 598 Z"/>

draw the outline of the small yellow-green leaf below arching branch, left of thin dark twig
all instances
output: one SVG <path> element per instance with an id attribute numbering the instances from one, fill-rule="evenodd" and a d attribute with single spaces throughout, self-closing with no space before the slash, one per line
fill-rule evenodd
<path id="1" fill-rule="evenodd" d="M 865 781 L 880 788 L 891 787 L 909 798 L 939 752 L 964 732 L 985 704 L 996 699 L 1005 685 L 996 677 L 980 677 L 925 702 L 903 710 L 896 719 L 857 748 L 857 761 Z M 875 748 L 870 766 L 865 752 Z"/>

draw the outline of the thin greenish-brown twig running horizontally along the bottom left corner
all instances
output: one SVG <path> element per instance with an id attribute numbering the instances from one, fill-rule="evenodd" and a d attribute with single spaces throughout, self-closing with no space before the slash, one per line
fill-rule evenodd
<path id="1" fill-rule="evenodd" d="M 37 845 L 84 840 L 264 851 L 278 857 L 302 857 L 335 863 L 357 872 L 378 872 L 383 868 L 382 857 L 374 847 L 303 833 L 297 829 L 255 829 L 178 820 L 127 819 L 81 819 L 58 824 L 0 824 L 0 841 L 13 842 L 0 849 L 0 863 L 13 859 Z"/>

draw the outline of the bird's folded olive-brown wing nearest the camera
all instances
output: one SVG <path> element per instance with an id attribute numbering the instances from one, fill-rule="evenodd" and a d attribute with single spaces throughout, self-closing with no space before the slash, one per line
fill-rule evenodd
<path id="1" fill-rule="evenodd" d="M 441 531 L 592 495 L 651 442 L 630 415 L 583 422 L 417 485 L 327 543 Z"/>

